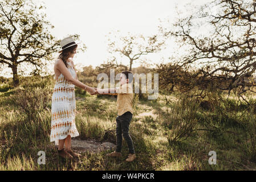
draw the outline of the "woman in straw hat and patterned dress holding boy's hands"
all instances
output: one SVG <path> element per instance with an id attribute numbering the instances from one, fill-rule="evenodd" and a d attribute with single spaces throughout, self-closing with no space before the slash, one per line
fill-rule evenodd
<path id="1" fill-rule="evenodd" d="M 70 37 L 60 42 L 62 51 L 55 62 L 55 86 L 51 104 L 51 142 L 58 145 L 58 154 L 65 159 L 79 157 L 71 150 L 71 137 L 79 135 L 75 125 L 75 86 L 90 94 L 96 90 L 78 81 L 72 58 L 78 45 Z M 65 144 L 65 149 L 64 149 Z"/>

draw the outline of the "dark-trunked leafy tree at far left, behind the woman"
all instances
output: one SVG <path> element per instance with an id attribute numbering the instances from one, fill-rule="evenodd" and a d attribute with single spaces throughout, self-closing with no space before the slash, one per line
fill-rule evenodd
<path id="1" fill-rule="evenodd" d="M 31 0 L 0 0 L 0 66 L 12 69 L 14 86 L 19 65 L 28 63 L 39 72 L 59 46 L 43 9 Z"/>

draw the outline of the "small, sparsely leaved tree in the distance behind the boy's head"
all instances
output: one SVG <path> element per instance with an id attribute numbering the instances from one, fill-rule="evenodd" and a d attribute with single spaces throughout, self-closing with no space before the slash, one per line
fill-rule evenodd
<path id="1" fill-rule="evenodd" d="M 132 71 L 132 64 L 135 60 L 140 60 L 142 55 L 148 55 L 160 51 L 164 44 L 156 35 L 145 37 L 143 35 L 132 35 L 128 33 L 127 36 L 120 36 L 115 33 L 109 33 L 109 52 L 118 52 L 121 56 L 129 59 L 129 71 Z"/>

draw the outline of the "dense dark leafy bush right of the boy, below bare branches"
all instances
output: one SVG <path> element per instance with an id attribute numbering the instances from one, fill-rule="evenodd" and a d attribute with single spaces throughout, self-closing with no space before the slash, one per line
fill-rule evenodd
<path id="1" fill-rule="evenodd" d="M 159 86 L 165 93 L 177 91 L 178 94 L 189 97 L 206 96 L 205 90 L 216 90 L 214 86 L 226 84 L 224 80 L 211 80 L 211 78 L 203 77 L 204 72 L 201 69 L 189 71 L 189 69 L 181 67 L 180 65 L 168 63 L 158 64 L 154 69 L 159 73 Z"/>

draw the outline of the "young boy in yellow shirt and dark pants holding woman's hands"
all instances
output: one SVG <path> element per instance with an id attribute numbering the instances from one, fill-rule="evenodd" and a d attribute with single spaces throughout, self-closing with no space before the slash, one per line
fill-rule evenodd
<path id="1" fill-rule="evenodd" d="M 135 150 L 133 147 L 132 138 L 129 135 L 129 125 L 132 119 L 132 79 L 133 75 L 130 71 L 124 71 L 120 74 L 120 87 L 110 89 L 97 89 L 100 94 L 117 94 L 117 117 L 116 117 L 116 150 L 107 156 L 120 157 L 122 147 L 122 135 L 127 142 L 129 148 L 129 155 L 126 159 L 127 162 L 132 162 L 135 158 Z M 104 92 L 104 93 L 103 93 Z"/>

